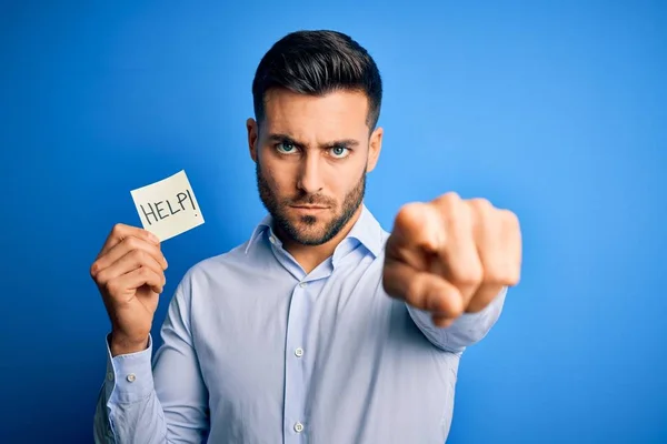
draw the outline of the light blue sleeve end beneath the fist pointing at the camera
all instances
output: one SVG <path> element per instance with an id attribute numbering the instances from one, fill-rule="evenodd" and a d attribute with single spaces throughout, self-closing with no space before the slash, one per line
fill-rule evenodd
<path id="1" fill-rule="evenodd" d="M 507 287 L 477 313 L 461 314 L 449 327 L 441 329 L 434 324 L 431 314 L 407 304 L 408 312 L 424 335 L 437 347 L 451 353 L 462 353 L 467 346 L 481 341 L 496 321 L 505 304 Z"/>

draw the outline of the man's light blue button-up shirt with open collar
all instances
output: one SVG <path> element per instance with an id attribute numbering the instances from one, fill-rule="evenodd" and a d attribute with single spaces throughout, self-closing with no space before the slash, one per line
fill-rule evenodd
<path id="1" fill-rule="evenodd" d="M 97 442 L 444 443 L 465 347 L 497 321 L 437 329 L 382 289 L 389 236 L 364 205 L 306 274 L 267 216 L 242 245 L 192 266 L 139 353 L 111 357 Z"/>

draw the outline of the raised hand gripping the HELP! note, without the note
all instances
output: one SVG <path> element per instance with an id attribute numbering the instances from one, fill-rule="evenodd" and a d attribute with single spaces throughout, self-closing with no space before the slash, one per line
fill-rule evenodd
<path id="1" fill-rule="evenodd" d="M 107 238 L 90 275 L 111 321 L 111 354 L 146 350 L 167 260 L 150 232 L 117 224 Z"/>

